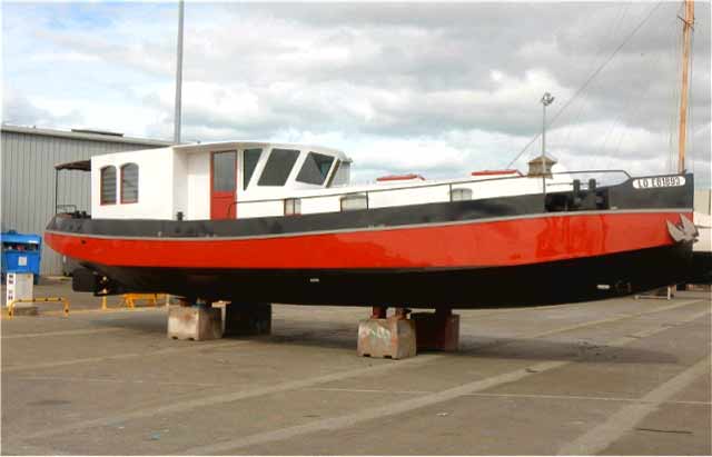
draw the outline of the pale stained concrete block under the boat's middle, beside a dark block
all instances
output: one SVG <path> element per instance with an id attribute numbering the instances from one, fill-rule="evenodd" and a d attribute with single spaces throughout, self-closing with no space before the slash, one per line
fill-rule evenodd
<path id="1" fill-rule="evenodd" d="M 358 322 L 357 351 L 359 356 L 369 357 L 414 357 L 417 354 L 415 322 L 397 317 L 362 320 Z"/>

